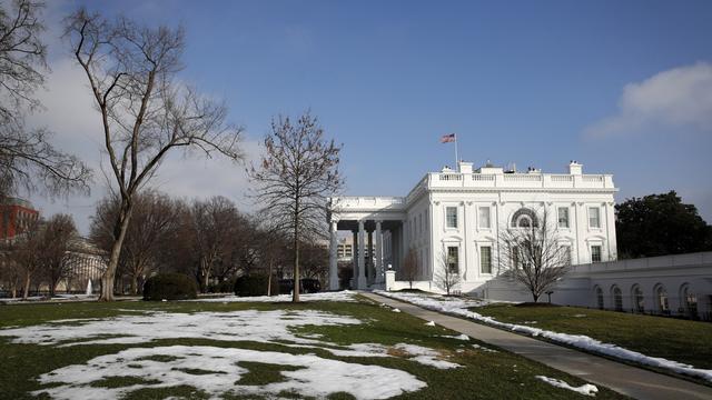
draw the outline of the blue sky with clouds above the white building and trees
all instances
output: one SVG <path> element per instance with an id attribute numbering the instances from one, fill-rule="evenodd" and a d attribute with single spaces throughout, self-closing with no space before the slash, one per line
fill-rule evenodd
<path id="1" fill-rule="evenodd" d="M 50 4 L 49 24 L 79 3 Z M 310 109 L 344 144 L 346 194 L 404 196 L 425 172 L 453 163 L 452 144 L 438 138 L 456 132 L 461 158 L 477 166 L 490 159 L 563 172 L 576 159 L 584 172 L 613 173 L 619 201 L 674 189 L 712 221 L 710 1 L 87 6 L 184 23 L 181 79 L 228 102 L 230 119 L 247 129 L 247 149 L 257 149 L 271 116 Z M 86 92 L 86 82 L 66 44 L 50 44 L 55 77 L 37 123 L 96 164 L 98 116 L 60 100 Z M 67 88 L 73 79 L 81 93 Z M 191 161 L 199 168 L 187 171 L 181 162 L 164 166 L 161 190 L 222 193 L 251 208 L 243 168 Z M 206 173 L 219 178 L 206 181 Z M 46 212 L 76 213 L 86 230 L 101 180 L 91 198 L 33 200 Z"/>

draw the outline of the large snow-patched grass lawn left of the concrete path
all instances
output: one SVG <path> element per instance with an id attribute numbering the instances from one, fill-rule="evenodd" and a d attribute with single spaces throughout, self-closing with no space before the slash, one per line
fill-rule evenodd
<path id="1" fill-rule="evenodd" d="M 264 324 L 265 316 L 274 318 L 274 328 Z M 317 323 L 332 317 L 343 321 Z M 301 323 L 304 318 L 315 322 Z M 24 334 L 3 334 L 10 329 Z M 281 337 L 269 337 L 273 331 L 281 332 Z M 421 382 L 417 390 L 405 390 L 398 399 L 586 398 L 535 376 L 562 379 L 574 387 L 585 383 L 581 379 L 473 339 L 446 337 L 455 334 L 366 300 L 0 306 L 0 398 L 33 398 L 32 391 L 61 389 L 53 392 L 56 398 L 71 398 L 72 393 L 79 398 L 77 393 L 95 390 L 92 397 L 97 399 L 259 399 L 259 390 L 269 388 L 273 393 L 266 398 L 313 398 L 295 389 L 274 391 L 280 384 L 298 386 L 299 380 L 290 377 L 303 372 L 300 377 L 306 378 L 300 379 L 316 379 L 335 388 L 328 396 L 320 396 L 329 399 L 353 399 L 350 393 L 358 388 L 379 384 L 372 379 L 378 379 L 382 372 L 400 377 L 404 382 Z M 132 340 L 135 337 L 139 339 Z M 359 353 L 362 347 L 355 343 L 385 349 L 388 357 Z M 435 356 L 415 357 L 408 350 L 413 346 Z M 428 362 L 418 361 L 422 358 Z M 459 367 L 438 369 L 433 362 Z M 356 381 L 358 384 L 340 386 L 339 379 L 354 378 L 339 378 L 337 370 L 343 367 L 365 377 L 382 372 Z M 95 377 L 101 370 L 117 373 Z M 166 386 L 168 378 L 164 377 L 184 379 Z M 161 380 L 164 384 L 159 384 Z M 225 380 L 230 383 L 225 384 Z M 231 384 L 243 389 L 231 391 Z M 211 392 L 216 389 L 219 392 Z M 602 387 L 599 390 L 597 399 L 624 398 Z M 38 393 L 38 398 L 50 398 L 48 392 Z"/>

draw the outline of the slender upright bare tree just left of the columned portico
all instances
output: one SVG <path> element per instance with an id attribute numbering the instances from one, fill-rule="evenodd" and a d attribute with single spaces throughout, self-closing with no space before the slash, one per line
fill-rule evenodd
<path id="1" fill-rule="evenodd" d="M 296 123 L 289 117 L 271 122 L 265 138 L 266 153 L 259 166 L 248 170 L 257 183 L 254 198 L 274 227 L 293 243 L 293 301 L 299 301 L 299 243 L 325 237 L 326 197 L 342 188 L 339 151 L 324 138 L 324 129 L 309 112 Z"/>

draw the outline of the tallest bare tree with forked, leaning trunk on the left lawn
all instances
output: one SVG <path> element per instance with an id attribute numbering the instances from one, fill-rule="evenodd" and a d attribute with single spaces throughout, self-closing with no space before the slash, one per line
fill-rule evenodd
<path id="1" fill-rule="evenodd" d="M 185 49 L 182 28 L 144 27 L 125 17 L 107 20 L 81 8 L 66 19 L 65 36 L 91 88 L 121 199 L 100 298 L 111 301 L 138 190 L 174 149 L 241 159 L 240 129 L 225 123 L 224 103 L 176 79 Z"/>

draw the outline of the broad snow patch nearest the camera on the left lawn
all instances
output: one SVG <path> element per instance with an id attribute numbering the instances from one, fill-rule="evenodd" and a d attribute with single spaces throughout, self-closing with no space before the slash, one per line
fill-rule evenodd
<path id="1" fill-rule="evenodd" d="M 168 358 L 157 361 L 155 357 Z M 249 371 L 240 367 L 239 362 L 297 369 L 280 371 L 283 380 L 278 382 L 240 384 L 240 377 Z M 130 368 L 127 367 L 129 364 Z M 138 378 L 144 382 L 134 381 L 127 387 L 111 388 L 96 384 L 108 378 Z M 39 381 L 42 384 L 59 386 L 38 390 L 33 394 L 47 393 L 59 400 L 120 399 L 140 389 L 181 384 L 201 390 L 212 399 L 228 393 L 276 397 L 281 391 L 316 398 L 326 398 L 334 392 L 348 392 L 356 399 L 386 399 L 427 386 L 405 371 L 327 360 L 314 354 L 186 346 L 135 348 L 117 354 L 100 356 L 86 364 L 63 367 L 44 373 Z"/>

